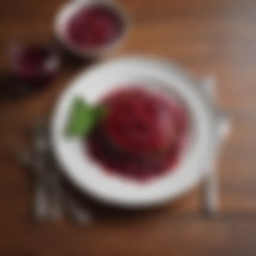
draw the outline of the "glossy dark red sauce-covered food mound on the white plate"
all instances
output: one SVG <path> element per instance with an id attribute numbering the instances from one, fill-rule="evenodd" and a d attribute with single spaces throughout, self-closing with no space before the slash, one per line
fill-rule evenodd
<path id="1" fill-rule="evenodd" d="M 103 103 L 107 116 L 88 139 L 103 169 L 138 180 L 174 169 L 187 132 L 181 105 L 142 88 L 115 92 Z"/>

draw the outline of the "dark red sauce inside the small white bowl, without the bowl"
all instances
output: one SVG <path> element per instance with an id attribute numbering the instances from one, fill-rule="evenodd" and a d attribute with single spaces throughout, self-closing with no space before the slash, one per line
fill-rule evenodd
<path id="1" fill-rule="evenodd" d="M 118 14 L 103 6 L 85 7 L 70 18 L 69 40 L 78 47 L 97 48 L 114 41 L 122 30 Z"/>

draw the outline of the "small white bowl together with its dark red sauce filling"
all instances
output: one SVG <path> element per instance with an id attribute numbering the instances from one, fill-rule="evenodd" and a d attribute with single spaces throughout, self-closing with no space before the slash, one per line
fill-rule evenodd
<path id="1" fill-rule="evenodd" d="M 113 50 L 127 31 L 127 18 L 116 5 L 103 1 L 74 1 L 55 20 L 59 41 L 77 55 L 99 57 Z"/>

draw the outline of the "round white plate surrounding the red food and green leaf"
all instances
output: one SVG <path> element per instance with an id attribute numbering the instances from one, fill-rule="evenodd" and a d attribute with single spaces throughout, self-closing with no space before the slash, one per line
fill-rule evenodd
<path id="1" fill-rule="evenodd" d="M 177 170 L 148 183 L 107 175 L 87 157 L 82 139 L 64 136 L 74 97 L 95 102 L 107 90 L 131 82 L 162 85 L 159 90 L 166 93 L 175 90 L 186 102 L 194 120 L 191 150 L 186 152 Z M 209 99 L 181 70 L 165 61 L 129 57 L 97 65 L 76 77 L 59 97 L 50 134 L 54 153 L 65 175 L 81 191 L 107 203 L 142 207 L 174 199 L 197 184 L 213 154 L 217 138 L 215 123 Z"/>

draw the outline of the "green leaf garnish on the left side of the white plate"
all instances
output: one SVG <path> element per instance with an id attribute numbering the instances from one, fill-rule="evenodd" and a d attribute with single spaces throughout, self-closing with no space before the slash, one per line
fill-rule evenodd
<path id="1" fill-rule="evenodd" d="M 105 115 L 105 106 L 90 106 L 81 98 L 76 98 L 71 107 L 66 135 L 88 135 Z"/>

